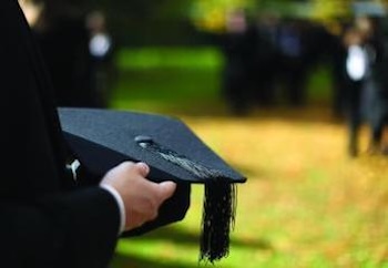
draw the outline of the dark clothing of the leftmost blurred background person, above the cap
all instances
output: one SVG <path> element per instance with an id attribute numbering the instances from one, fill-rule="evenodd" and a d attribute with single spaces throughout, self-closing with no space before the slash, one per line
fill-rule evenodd
<path id="1" fill-rule="evenodd" d="M 101 106 L 82 17 L 58 16 L 34 31 L 59 106 Z"/>

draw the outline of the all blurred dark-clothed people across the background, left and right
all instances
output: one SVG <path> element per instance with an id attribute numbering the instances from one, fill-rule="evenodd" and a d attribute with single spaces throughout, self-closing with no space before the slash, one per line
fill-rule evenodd
<path id="1" fill-rule="evenodd" d="M 19 0 L 31 24 L 59 106 L 108 105 L 113 42 L 101 11 L 72 0 Z M 338 19 L 337 31 L 317 21 L 244 10 L 227 13 L 225 31 L 212 35 L 224 54 L 222 93 L 231 111 L 308 102 L 307 81 L 317 66 L 331 72 L 333 113 L 346 118 L 348 153 L 359 153 L 359 130 L 370 126 L 370 153 L 388 153 L 388 28 L 385 14 Z M 386 66 L 387 65 L 387 66 Z"/>

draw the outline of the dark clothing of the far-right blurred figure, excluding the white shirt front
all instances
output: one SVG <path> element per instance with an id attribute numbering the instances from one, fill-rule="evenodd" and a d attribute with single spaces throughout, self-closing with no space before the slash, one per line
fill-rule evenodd
<path id="1" fill-rule="evenodd" d="M 359 82 L 348 83 L 347 97 L 349 118 L 350 154 L 357 152 L 357 135 L 361 122 L 370 127 L 370 152 L 380 152 L 382 134 L 388 118 L 388 83 L 387 83 L 387 52 L 386 38 L 376 34 L 363 44 L 366 54 L 366 74 Z M 346 78 L 349 80 L 349 78 Z M 351 84 L 356 85 L 351 86 Z"/>

